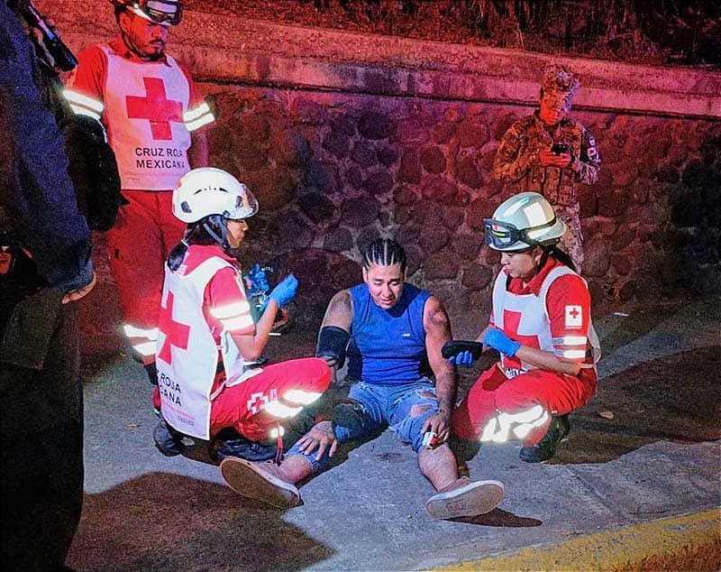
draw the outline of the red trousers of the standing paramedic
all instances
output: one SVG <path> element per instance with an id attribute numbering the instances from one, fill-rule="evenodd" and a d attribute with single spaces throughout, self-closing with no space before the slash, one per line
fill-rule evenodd
<path id="1" fill-rule="evenodd" d="M 163 266 L 187 226 L 173 216 L 172 191 L 123 190 L 123 196 L 130 202 L 120 208 L 115 226 L 107 233 L 107 244 L 124 323 L 158 328 Z M 133 347 L 149 341 L 128 339 Z M 154 351 L 143 355 L 145 364 L 154 360 Z"/>

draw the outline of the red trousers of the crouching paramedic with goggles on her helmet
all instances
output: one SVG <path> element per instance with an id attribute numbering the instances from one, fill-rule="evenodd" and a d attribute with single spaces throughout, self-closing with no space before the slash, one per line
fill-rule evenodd
<path id="1" fill-rule="evenodd" d="M 553 416 L 565 415 L 588 403 L 596 393 L 593 368 L 580 370 L 578 376 L 535 369 L 508 379 L 494 364 L 480 377 L 461 405 L 453 411 L 451 425 L 460 438 L 477 440 L 489 420 L 502 413 L 516 413 L 541 405 Z M 546 434 L 551 419 L 523 440 L 533 447 Z"/>

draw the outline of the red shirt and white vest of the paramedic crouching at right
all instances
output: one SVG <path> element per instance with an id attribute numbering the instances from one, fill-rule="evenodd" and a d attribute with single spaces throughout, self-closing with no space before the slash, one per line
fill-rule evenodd
<path id="1" fill-rule="evenodd" d="M 550 266 L 550 268 L 549 268 Z M 537 291 L 515 293 L 507 289 L 508 276 L 499 272 L 493 287 L 491 324 L 524 346 L 553 352 L 566 362 L 594 364 L 593 347 L 598 338 L 590 317 L 586 281 L 568 266 L 550 260 Z M 568 277 L 561 281 L 562 277 Z M 549 296 L 562 288 L 561 296 Z M 517 357 L 501 355 L 507 377 L 535 369 Z"/>

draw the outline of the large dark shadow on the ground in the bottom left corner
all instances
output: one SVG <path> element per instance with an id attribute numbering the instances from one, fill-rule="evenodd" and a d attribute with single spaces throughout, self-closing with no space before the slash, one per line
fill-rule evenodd
<path id="1" fill-rule="evenodd" d="M 83 570 L 289 570 L 333 550 L 223 484 L 149 473 L 87 494 L 68 565 Z"/>

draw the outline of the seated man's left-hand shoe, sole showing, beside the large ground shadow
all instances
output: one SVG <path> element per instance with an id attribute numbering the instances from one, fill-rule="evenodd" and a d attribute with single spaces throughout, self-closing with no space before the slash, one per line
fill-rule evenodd
<path id="1" fill-rule="evenodd" d="M 238 457 L 225 457 L 220 463 L 220 474 L 233 491 L 261 503 L 278 509 L 303 504 L 296 485 L 281 479 L 278 467 L 270 462 L 253 463 Z"/>

